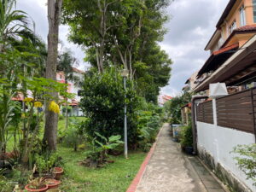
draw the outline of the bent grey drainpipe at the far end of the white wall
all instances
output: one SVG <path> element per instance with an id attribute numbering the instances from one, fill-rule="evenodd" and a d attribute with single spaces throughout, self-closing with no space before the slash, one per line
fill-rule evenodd
<path id="1" fill-rule="evenodd" d="M 197 154 L 197 130 L 195 123 L 195 101 L 200 99 L 207 99 L 208 96 L 193 96 L 191 104 L 191 118 L 192 118 L 192 132 L 193 132 L 193 154 Z"/>

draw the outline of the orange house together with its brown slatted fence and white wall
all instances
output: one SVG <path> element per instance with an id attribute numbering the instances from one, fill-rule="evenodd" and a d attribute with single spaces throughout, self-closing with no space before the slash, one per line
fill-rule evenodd
<path id="1" fill-rule="evenodd" d="M 230 153 L 256 142 L 256 0 L 230 0 L 205 49 L 194 89 L 205 96 L 191 106 L 195 152 L 233 191 L 256 191 Z M 226 96 L 212 95 L 217 88 Z"/>

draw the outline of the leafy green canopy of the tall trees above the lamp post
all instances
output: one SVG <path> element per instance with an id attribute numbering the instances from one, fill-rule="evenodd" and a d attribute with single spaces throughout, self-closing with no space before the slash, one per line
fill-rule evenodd
<path id="1" fill-rule="evenodd" d="M 170 79 L 172 60 L 158 43 L 166 33 L 170 0 L 66 0 L 62 23 L 69 39 L 85 51 L 85 60 L 99 73 L 105 67 L 130 72 L 137 92 L 157 101 L 160 87 Z"/>

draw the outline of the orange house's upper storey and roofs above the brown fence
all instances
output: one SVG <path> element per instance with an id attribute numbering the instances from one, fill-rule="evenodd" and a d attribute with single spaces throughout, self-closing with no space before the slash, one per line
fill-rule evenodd
<path id="1" fill-rule="evenodd" d="M 230 92 L 255 86 L 256 0 L 230 0 L 218 20 L 216 31 L 205 50 L 210 56 L 197 74 L 206 76 L 195 92 L 206 91 L 209 84 L 224 82 Z"/>

